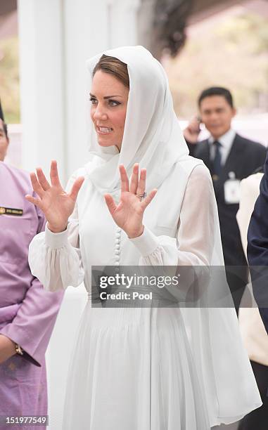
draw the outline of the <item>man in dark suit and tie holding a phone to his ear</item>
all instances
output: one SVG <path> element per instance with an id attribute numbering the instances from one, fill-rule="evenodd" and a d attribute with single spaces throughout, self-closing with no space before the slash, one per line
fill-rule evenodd
<path id="1" fill-rule="evenodd" d="M 219 211 L 226 276 L 238 310 L 245 285 L 248 265 L 243 253 L 236 221 L 239 203 L 239 181 L 253 174 L 264 164 L 266 148 L 260 143 L 239 136 L 231 128 L 236 115 L 233 98 L 228 89 L 205 89 L 198 98 L 200 122 L 210 131 L 210 137 L 198 142 L 197 120 L 184 130 L 190 154 L 203 159 L 210 170 Z"/>

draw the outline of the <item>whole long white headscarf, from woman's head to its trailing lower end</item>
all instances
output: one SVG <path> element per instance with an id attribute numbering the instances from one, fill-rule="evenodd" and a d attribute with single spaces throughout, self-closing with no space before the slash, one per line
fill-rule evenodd
<path id="1" fill-rule="evenodd" d="M 129 100 L 120 153 L 115 146 L 101 148 L 91 125 L 91 162 L 87 174 L 101 194 L 120 193 L 119 164 L 132 173 L 135 162 L 148 170 L 146 188 L 159 188 L 175 164 L 181 169 L 176 184 L 177 206 L 181 207 L 186 184 L 198 159 L 189 157 L 179 122 L 173 110 L 167 76 L 162 66 L 142 46 L 127 46 L 104 52 L 127 64 Z M 103 53 L 88 61 L 92 73 Z M 173 187 L 173 184 L 171 185 Z M 164 205 L 163 210 L 166 212 Z M 224 266 L 222 242 L 215 196 L 211 195 L 212 223 L 210 266 Z M 210 238 L 208 237 L 208 240 Z M 215 272 L 214 272 L 215 273 Z M 224 278 L 225 279 L 225 278 Z M 250 362 L 242 346 L 238 321 L 226 282 L 213 278 L 208 295 L 200 298 L 199 308 L 181 308 L 189 333 L 193 359 L 204 387 L 210 426 L 234 422 L 261 405 L 260 394 Z M 202 303 L 203 300 L 206 300 Z M 205 307 L 215 303 L 217 307 Z M 226 308 L 224 308 L 226 306 Z"/>

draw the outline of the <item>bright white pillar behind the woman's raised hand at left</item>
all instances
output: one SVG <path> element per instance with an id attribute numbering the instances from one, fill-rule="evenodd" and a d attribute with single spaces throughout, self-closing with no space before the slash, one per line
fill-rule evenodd
<path id="1" fill-rule="evenodd" d="M 18 1 L 22 167 L 64 169 L 63 38 L 60 0 Z"/>

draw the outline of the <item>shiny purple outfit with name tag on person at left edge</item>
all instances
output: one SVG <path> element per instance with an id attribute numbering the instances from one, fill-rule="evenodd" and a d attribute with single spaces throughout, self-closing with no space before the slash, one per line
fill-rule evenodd
<path id="1" fill-rule="evenodd" d="M 0 162 L 0 334 L 25 350 L 0 364 L 0 416 L 47 414 L 44 354 L 63 299 L 63 292 L 45 291 L 30 272 L 28 247 L 45 219 L 25 194 L 33 195 L 29 174 Z M 5 208 L 19 211 L 6 214 Z M 17 428 L 44 429 L 12 426 Z"/>

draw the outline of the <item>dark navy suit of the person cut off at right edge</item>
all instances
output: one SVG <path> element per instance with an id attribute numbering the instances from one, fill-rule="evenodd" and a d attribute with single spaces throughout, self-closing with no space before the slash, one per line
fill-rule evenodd
<path id="1" fill-rule="evenodd" d="M 268 333 L 268 268 L 254 267 L 268 266 L 268 157 L 260 183 L 260 196 L 255 203 L 248 227 L 248 263 L 253 292 Z"/>

